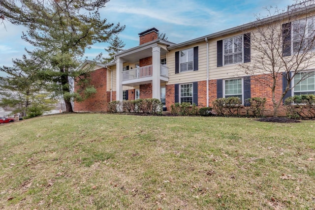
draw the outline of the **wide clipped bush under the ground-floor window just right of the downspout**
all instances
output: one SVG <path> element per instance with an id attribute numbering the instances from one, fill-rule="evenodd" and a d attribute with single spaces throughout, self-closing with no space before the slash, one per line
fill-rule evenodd
<path id="1" fill-rule="evenodd" d="M 242 100 L 239 97 L 217 98 L 212 105 L 220 116 L 239 116 Z"/>

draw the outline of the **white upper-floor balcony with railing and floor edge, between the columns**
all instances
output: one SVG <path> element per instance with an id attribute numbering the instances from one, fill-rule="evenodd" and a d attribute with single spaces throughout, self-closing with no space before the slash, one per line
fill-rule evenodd
<path id="1" fill-rule="evenodd" d="M 123 71 L 123 85 L 136 86 L 152 81 L 153 66 L 147 65 Z M 160 64 L 160 80 L 168 82 L 168 67 Z"/>

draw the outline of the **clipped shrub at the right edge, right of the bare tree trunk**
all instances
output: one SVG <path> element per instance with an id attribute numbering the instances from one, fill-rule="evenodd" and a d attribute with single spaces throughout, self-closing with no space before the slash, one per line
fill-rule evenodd
<path id="1" fill-rule="evenodd" d="M 286 115 L 292 119 L 315 118 L 315 95 L 294 95 L 284 101 Z"/>

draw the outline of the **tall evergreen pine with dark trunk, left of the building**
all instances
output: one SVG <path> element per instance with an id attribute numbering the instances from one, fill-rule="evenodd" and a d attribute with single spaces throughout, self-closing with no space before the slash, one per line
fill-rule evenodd
<path id="1" fill-rule="evenodd" d="M 124 30 L 120 24 L 101 19 L 99 8 L 109 0 L 1 0 L 1 15 L 15 25 L 28 28 L 22 38 L 35 50 L 27 51 L 32 59 L 40 59 L 41 79 L 51 84 L 50 90 L 62 95 L 66 111 L 72 112 L 71 98 L 80 94 L 71 90 L 71 82 L 82 78 L 87 95 L 95 88 L 88 85 L 89 69 L 77 68 L 85 49 L 96 42 L 106 42 L 113 34 Z M 100 58 L 100 56 L 99 56 Z M 80 77 L 79 77 L 80 76 Z"/>

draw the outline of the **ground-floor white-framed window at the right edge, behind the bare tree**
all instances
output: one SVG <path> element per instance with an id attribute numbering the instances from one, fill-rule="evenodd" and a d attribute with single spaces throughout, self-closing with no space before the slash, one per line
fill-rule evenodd
<path id="1" fill-rule="evenodd" d="M 294 76 L 294 95 L 315 94 L 315 74 L 300 72 Z"/>

